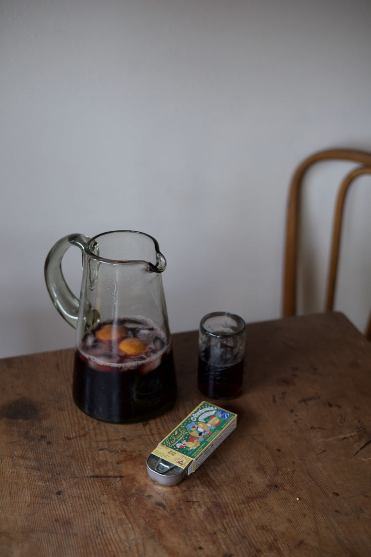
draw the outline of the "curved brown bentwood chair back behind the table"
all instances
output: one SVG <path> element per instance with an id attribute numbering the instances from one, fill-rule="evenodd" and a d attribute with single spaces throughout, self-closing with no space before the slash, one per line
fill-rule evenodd
<path id="1" fill-rule="evenodd" d="M 371 153 L 353 149 L 329 149 L 320 151 L 303 160 L 298 168 L 296 168 L 293 178 L 291 179 L 289 189 L 288 213 L 286 220 L 283 285 L 284 317 L 296 314 L 296 268 L 298 263 L 298 228 L 301 183 L 306 170 L 312 164 L 321 160 L 348 160 L 350 162 L 353 161 L 355 163 L 359 163 L 355 169 L 345 176 L 338 190 L 332 231 L 332 245 L 330 246 L 330 260 L 325 300 L 326 311 L 331 311 L 334 304 L 345 197 L 350 186 L 354 183 L 354 180 L 357 177 L 363 174 L 371 174 Z M 371 315 L 365 336 L 367 336 L 368 340 L 371 340 Z"/>

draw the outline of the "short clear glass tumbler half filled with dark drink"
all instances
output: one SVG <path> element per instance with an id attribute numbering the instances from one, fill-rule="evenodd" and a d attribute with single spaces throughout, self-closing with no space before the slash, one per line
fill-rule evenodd
<path id="1" fill-rule="evenodd" d="M 241 394 L 244 376 L 245 321 L 215 311 L 202 317 L 197 386 L 206 397 L 229 400 Z"/>

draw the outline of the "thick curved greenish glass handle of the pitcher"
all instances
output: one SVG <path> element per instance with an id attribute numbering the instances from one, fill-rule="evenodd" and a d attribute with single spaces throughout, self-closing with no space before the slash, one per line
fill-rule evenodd
<path id="1" fill-rule="evenodd" d="M 83 234 L 69 234 L 52 247 L 47 255 L 44 276 L 45 282 L 53 304 L 62 317 L 76 329 L 79 300 L 70 290 L 62 272 L 62 258 L 71 246 L 77 246 L 84 251 L 86 243 L 90 240 Z"/>

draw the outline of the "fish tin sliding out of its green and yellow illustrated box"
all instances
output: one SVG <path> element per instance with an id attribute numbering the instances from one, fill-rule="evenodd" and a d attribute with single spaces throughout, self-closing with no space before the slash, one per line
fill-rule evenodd
<path id="1" fill-rule="evenodd" d="M 237 426 L 237 414 L 201 402 L 147 458 L 151 480 L 172 486 L 189 476 Z"/>

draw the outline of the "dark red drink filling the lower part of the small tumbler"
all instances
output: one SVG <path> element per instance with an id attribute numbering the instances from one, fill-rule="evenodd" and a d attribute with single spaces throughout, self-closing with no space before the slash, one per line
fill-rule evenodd
<path id="1" fill-rule="evenodd" d="M 204 359 L 199 357 L 198 388 L 206 397 L 218 400 L 229 400 L 241 394 L 244 360 L 234 365 L 210 364 L 208 350 L 204 351 Z"/>

